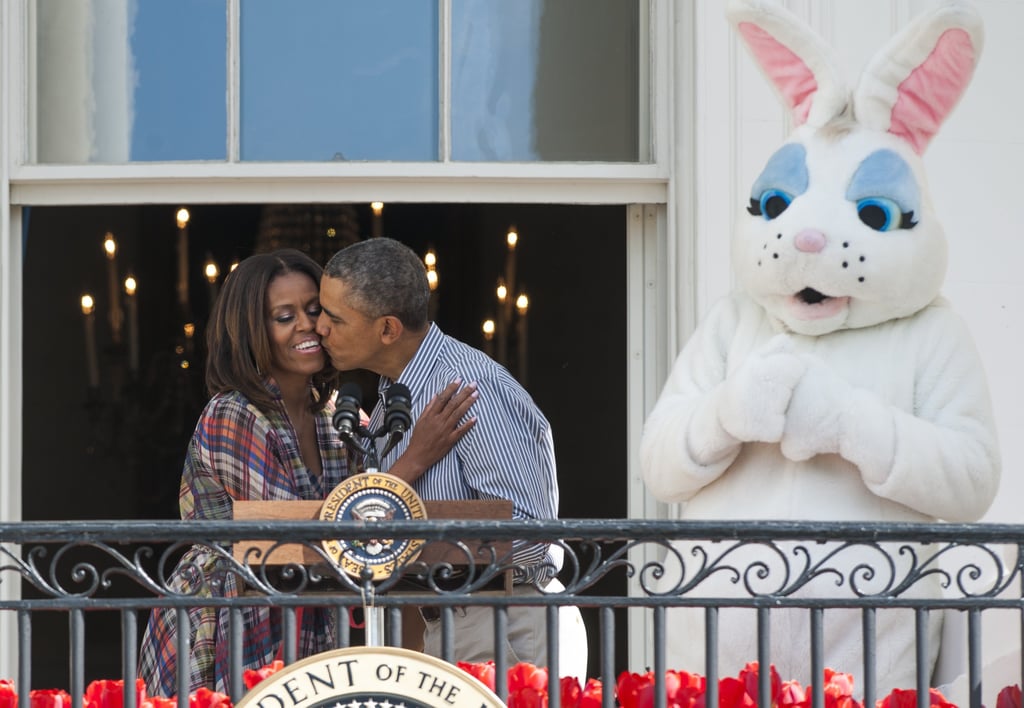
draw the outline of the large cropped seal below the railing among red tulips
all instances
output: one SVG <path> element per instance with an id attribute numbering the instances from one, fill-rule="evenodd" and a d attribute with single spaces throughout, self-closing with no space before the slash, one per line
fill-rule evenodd
<path id="1" fill-rule="evenodd" d="M 440 659 L 397 647 L 315 654 L 257 683 L 237 708 L 504 708 L 482 682 Z"/>

